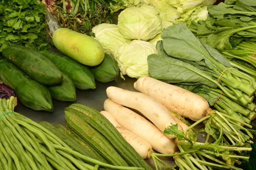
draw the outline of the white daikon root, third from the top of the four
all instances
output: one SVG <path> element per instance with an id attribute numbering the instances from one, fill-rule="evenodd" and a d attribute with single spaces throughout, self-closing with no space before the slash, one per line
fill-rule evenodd
<path id="1" fill-rule="evenodd" d="M 170 140 L 151 122 L 134 111 L 111 101 L 105 100 L 104 110 L 108 111 L 123 128 L 147 140 L 153 150 L 159 153 L 175 153 L 177 145 Z"/>

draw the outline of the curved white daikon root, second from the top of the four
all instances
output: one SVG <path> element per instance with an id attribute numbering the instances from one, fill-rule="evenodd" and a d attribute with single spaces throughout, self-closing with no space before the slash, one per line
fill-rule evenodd
<path id="1" fill-rule="evenodd" d="M 169 110 L 152 97 L 136 92 L 129 91 L 115 86 L 109 86 L 106 89 L 107 96 L 113 102 L 138 110 L 153 124 L 155 124 L 161 132 L 171 125 L 178 125 L 178 129 L 183 131 L 177 121 L 169 114 Z M 169 136 L 175 138 L 174 136 Z"/>

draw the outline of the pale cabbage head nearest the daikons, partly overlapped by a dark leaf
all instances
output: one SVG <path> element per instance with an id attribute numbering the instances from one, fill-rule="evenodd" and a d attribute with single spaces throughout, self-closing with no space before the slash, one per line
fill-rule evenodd
<path id="1" fill-rule="evenodd" d="M 122 75 L 138 78 L 149 76 L 148 55 L 157 53 L 156 47 L 147 41 L 133 40 L 117 48 L 114 57 Z"/>

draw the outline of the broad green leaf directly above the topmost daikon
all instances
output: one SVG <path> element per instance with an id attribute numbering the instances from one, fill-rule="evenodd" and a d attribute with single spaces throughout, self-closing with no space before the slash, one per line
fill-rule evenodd
<path id="1" fill-rule="evenodd" d="M 168 83 L 195 83 L 217 87 L 215 83 L 209 80 L 212 76 L 208 72 L 182 60 L 159 54 L 151 54 L 147 60 L 151 77 L 158 80 Z"/>

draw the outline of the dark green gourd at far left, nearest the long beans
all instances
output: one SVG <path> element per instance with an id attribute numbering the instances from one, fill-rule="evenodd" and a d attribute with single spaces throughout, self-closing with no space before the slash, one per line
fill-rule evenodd
<path id="1" fill-rule="evenodd" d="M 0 79 L 16 91 L 23 105 L 34 110 L 53 111 L 49 90 L 5 59 L 0 60 Z"/>

